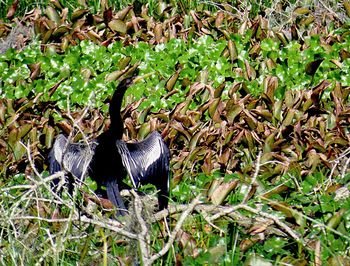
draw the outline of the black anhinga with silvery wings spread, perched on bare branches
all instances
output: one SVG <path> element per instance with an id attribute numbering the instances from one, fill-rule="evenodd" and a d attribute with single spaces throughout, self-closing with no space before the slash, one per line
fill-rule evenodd
<path id="1" fill-rule="evenodd" d="M 143 141 L 134 143 L 122 140 L 121 105 L 135 76 L 121 81 L 115 90 L 109 105 L 111 123 L 108 130 L 90 144 L 70 143 L 65 136 L 59 135 L 49 154 L 50 174 L 65 170 L 81 180 L 87 172 L 99 189 L 102 185 L 106 187 L 108 199 L 120 215 L 126 212 L 120 196 L 126 174 L 135 188 L 143 184 L 156 186 L 160 210 L 167 208 L 169 197 L 170 153 L 161 135 L 152 132 Z"/>

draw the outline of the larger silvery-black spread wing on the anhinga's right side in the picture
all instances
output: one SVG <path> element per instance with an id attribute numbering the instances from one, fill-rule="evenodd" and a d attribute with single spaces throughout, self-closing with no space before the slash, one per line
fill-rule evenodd
<path id="1" fill-rule="evenodd" d="M 151 183 L 169 190 L 169 149 L 158 132 L 138 143 L 117 140 L 116 146 L 135 188 Z"/>

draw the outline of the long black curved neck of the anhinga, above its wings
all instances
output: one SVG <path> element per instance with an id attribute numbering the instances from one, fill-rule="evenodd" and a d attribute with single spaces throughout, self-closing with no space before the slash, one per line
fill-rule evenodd
<path id="1" fill-rule="evenodd" d="M 116 139 L 121 139 L 123 136 L 124 123 L 120 115 L 120 110 L 122 107 L 124 94 L 130 87 L 133 79 L 134 77 L 127 78 L 119 83 L 109 104 L 109 114 L 111 117 L 109 131 L 113 136 L 115 136 Z"/>

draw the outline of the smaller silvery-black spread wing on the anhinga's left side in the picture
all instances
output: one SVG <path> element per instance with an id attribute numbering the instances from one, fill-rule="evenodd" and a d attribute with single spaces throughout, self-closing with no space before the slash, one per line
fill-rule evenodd
<path id="1" fill-rule="evenodd" d="M 49 154 L 50 174 L 66 170 L 76 178 L 82 179 L 91 162 L 96 143 L 70 143 L 60 134 Z"/>

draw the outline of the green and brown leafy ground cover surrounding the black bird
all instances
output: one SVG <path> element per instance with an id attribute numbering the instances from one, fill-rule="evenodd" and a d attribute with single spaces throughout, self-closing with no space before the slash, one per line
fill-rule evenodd
<path id="1" fill-rule="evenodd" d="M 2 264 L 349 264 L 348 3 L 101 3 L 0 25 Z M 90 179 L 52 193 L 46 156 L 58 132 L 108 127 L 135 63 L 125 139 L 162 132 L 172 204 L 127 195 L 116 221 Z"/>

